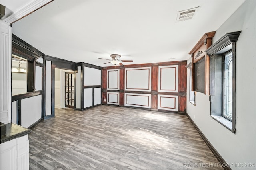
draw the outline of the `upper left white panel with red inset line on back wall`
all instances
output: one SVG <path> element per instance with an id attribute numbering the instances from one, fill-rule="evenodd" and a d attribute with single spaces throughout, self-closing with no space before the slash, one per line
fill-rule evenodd
<path id="1" fill-rule="evenodd" d="M 119 90 L 119 69 L 108 70 L 108 90 Z"/>

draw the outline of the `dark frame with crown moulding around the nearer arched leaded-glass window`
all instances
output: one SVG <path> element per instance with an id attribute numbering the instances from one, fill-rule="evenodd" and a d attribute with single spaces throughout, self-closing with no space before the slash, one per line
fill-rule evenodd
<path id="1" fill-rule="evenodd" d="M 215 100 L 218 100 L 220 98 L 221 105 L 216 104 L 214 105 L 214 98 L 216 94 L 216 86 L 215 86 L 215 78 L 213 79 L 212 76 L 210 78 L 210 102 L 211 102 L 211 110 L 210 110 L 210 116 L 218 121 L 220 124 L 222 124 L 224 127 L 228 128 L 230 131 L 233 133 L 236 133 L 236 42 L 238 40 L 238 37 L 242 31 L 237 31 L 237 32 L 231 32 L 231 33 L 226 33 L 223 37 L 221 37 L 216 43 L 211 45 L 205 52 L 210 56 L 210 60 L 214 59 L 214 55 L 221 55 L 222 56 L 222 84 L 218 85 L 221 86 L 222 89 L 222 94 L 220 96 L 220 92 L 218 92 L 218 95 L 216 96 Z M 223 78 L 224 78 L 224 55 L 227 54 L 228 52 L 232 51 L 232 69 L 233 69 L 233 74 L 232 74 L 232 119 L 226 119 L 226 117 L 223 116 L 223 111 L 224 111 L 224 97 L 223 97 L 223 88 L 224 88 L 224 83 L 223 83 Z M 214 65 L 210 65 L 211 71 L 210 74 L 213 73 L 215 76 L 216 68 L 215 68 L 215 61 L 210 62 L 211 64 L 214 63 Z M 218 83 L 220 84 L 220 82 Z M 218 88 L 218 87 L 217 87 Z M 219 90 L 219 89 L 217 89 Z M 216 106 L 216 107 L 215 107 Z M 213 108 L 214 107 L 214 108 Z M 220 108 L 219 108 L 220 107 Z M 219 113 L 221 112 L 221 113 Z"/>

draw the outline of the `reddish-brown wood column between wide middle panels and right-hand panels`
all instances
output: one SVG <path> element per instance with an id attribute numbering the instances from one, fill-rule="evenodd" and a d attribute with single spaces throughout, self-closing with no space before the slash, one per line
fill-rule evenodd
<path id="1" fill-rule="evenodd" d="M 158 63 L 151 66 L 151 110 L 158 111 Z"/>

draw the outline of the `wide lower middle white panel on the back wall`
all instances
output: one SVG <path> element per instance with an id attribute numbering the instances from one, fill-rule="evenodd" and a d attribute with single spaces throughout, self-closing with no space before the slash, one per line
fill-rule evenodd
<path id="1" fill-rule="evenodd" d="M 125 93 L 124 105 L 133 107 L 151 107 L 151 94 Z"/>

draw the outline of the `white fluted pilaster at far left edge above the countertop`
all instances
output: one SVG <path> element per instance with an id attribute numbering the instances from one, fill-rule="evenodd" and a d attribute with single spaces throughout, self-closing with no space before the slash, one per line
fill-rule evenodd
<path id="1" fill-rule="evenodd" d="M 0 21 L 0 120 L 11 122 L 11 61 L 12 61 L 12 28 Z"/>

